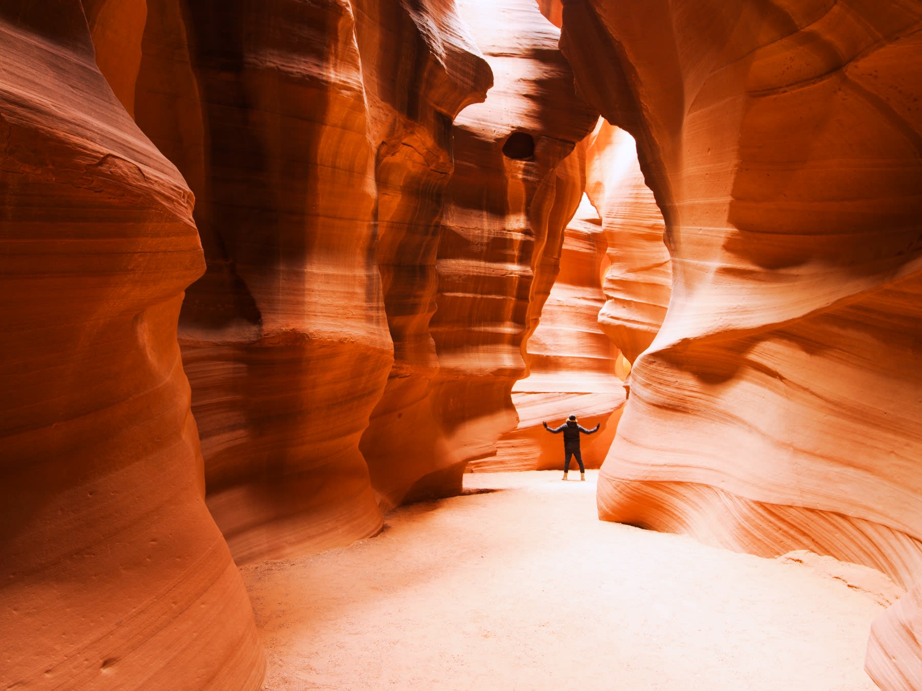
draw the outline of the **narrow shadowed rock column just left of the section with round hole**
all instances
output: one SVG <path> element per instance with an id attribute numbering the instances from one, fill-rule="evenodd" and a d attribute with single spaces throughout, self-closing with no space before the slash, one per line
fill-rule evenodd
<path id="1" fill-rule="evenodd" d="M 429 325 L 436 309 L 435 259 L 445 188 L 454 171 L 451 121 L 469 103 L 484 100 L 492 81 L 490 66 L 453 4 L 445 5 L 451 11 L 432 15 L 440 29 L 434 35 L 428 34 L 425 17 L 401 7 L 381 3 L 374 15 L 362 12 L 358 25 L 363 56 L 380 51 L 377 42 L 393 46 L 379 53 L 390 62 L 382 59 L 376 71 L 373 63 L 364 70 L 375 113 L 373 140 L 382 142 L 376 161 L 376 261 L 394 366 L 360 448 L 384 510 L 399 504 L 422 478 L 441 470 L 433 456 L 440 426 L 429 392 L 438 357 Z M 441 47 L 431 44 L 440 36 L 451 41 L 442 40 Z M 448 56 L 440 67 L 433 56 L 442 53 Z"/>

